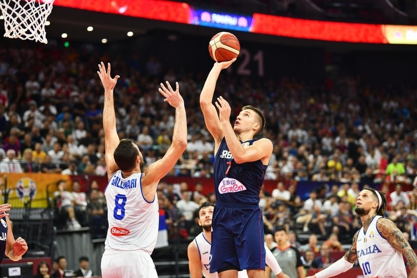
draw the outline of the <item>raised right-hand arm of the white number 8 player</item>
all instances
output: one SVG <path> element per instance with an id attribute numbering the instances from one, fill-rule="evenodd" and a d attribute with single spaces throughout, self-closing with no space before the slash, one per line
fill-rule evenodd
<path id="1" fill-rule="evenodd" d="M 165 97 L 164 101 L 167 101 L 175 108 L 175 125 L 172 144 L 161 159 L 146 168 L 144 172 L 145 176 L 142 179 L 143 185 L 155 185 L 155 190 L 159 180 L 174 167 L 182 152 L 184 152 L 187 147 L 187 120 L 185 116 L 184 101 L 180 95 L 179 84 L 176 82 L 175 91 L 168 81 L 166 81 L 166 85 L 167 87 L 161 83 L 159 92 Z"/>

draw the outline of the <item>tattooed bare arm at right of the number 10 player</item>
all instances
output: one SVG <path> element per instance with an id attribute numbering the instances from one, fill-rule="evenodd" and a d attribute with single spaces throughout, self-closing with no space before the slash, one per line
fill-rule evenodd
<path id="1" fill-rule="evenodd" d="M 415 270 L 417 266 L 416 253 L 410 246 L 410 243 L 405 239 L 403 233 L 395 224 L 388 219 L 380 218 L 376 224 L 380 233 L 388 240 L 393 248 L 404 255 L 408 261 L 411 270 Z"/>

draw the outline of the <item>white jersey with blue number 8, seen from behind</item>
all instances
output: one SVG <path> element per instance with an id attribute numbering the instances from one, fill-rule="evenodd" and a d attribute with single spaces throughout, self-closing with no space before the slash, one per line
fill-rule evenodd
<path id="1" fill-rule="evenodd" d="M 107 201 L 108 230 L 105 250 L 154 251 L 158 235 L 158 200 L 145 200 L 142 174 L 124 178 L 118 170 L 109 180 L 104 195 Z"/>

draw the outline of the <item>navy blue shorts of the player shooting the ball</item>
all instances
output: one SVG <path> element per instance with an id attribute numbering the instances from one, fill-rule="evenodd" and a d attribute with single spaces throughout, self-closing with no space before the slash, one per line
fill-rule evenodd
<path id="1" fill-rule="evenodd" d="M 233 265 L 238 270 L 265 269 L 262 210 L 216 203 L 211 223 L 210 273 Z"/>

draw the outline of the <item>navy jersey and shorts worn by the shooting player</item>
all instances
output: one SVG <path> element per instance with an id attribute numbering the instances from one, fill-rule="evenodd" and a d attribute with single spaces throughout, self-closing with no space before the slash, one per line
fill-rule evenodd
<path id="1" fill-rule="evenodd" d="M 242 142 L 252 145 L 256 139 Z M 265 269 L 259 192 L 265 178 L 261 160 L 237 164 L 223 138 L 214 159 L 216 205 L 213 211 L 210 273 L 233 265 Z"/>

